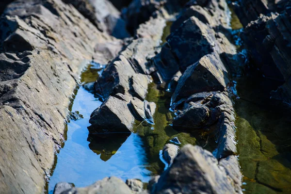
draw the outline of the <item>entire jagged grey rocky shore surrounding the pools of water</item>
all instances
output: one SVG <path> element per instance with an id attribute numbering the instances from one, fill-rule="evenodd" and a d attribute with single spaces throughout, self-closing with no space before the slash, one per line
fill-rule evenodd
<path id="1" fill-rule="evenodd" d="M 257 1 L 231 3 L 244 27 L 240 36 L 255 62 L 251 68 L 281 81 L 272 99 L 290 104 L 291 4 Z M 245 56 L 233 41 L 226 0 L 133 0 L 121 12 L 112 3 L 16 0 L 3 11 L 0 189 L 44 192 L 65 141 L 72 92 L 82 68 L 94 60 L 106 67 L 87 87 L 103 100 L 91 114 L 89 133 L 136 132 L 136 121 L 154 126 L 157 104 L 146 100 L 154 82 L 171 96 L 172 127 L 210 131 L 217 145 L 211 153 L 165 144 L 168 168 L 147 188 L 137 179 L 111 177 L 86 188 L 61 182 L 54 194 L 242 194 L 233 80 L 245 68 Z M 169 21 L 170 34 L 161 44 Z"/>

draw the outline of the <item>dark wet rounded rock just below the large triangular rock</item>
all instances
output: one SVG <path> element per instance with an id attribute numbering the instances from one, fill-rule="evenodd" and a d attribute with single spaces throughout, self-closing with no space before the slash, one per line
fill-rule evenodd
<path id="1" fill-rule="evenodd" d="M 173 121 L 173 127 L 179 129 L 199 129 L 206 125 L 210 117 L 208 107 L 190 102 Z"/>

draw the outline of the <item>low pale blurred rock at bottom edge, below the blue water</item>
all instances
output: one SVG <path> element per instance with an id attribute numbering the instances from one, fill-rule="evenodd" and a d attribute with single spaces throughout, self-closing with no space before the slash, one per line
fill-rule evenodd
<path id="1" fill-rule="evenodd" d="M 62 194 L 132 194 L 129 187 L 119 178 L 103 178 L 91 186 L 73 188 Z"/>

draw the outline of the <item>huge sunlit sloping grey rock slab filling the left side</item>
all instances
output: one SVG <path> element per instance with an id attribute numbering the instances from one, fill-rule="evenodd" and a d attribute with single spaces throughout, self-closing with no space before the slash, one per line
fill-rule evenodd
<path id="1" fill-rule="evenodd" d="M 8 6 L 0 19 L 2 193 L 43 192 L 81 69 L 96 44 L 112 41 L 61 0 Z"/>

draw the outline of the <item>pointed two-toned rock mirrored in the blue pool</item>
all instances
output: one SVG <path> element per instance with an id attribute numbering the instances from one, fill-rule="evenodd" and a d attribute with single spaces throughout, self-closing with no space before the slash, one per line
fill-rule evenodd
<path id="1" fill-rule="evenodd" d="M 132 132 L 134 117 L 128 103 L 109 97 L 90 116 L 92 128 L 106 132 Z"/>

